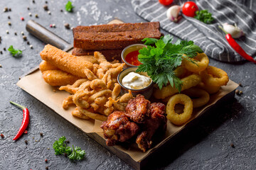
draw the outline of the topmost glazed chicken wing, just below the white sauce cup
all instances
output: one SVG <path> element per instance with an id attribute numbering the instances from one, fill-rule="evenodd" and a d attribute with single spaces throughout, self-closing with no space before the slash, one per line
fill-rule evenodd
<path id="1" fill-rule="evenodd" d="M 143 95 L 138 94 L 136 98 L 129 100 L 125 108 L 125 115 L 136 123 L 143 123 L 149 116 L 150 101 L 146 100 Z"/>

